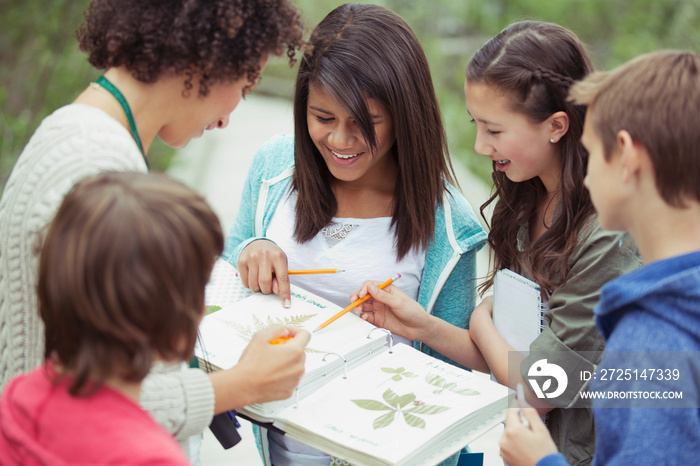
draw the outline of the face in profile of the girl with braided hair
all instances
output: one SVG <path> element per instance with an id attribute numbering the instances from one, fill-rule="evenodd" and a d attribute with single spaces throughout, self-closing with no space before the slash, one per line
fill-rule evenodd
<path id="1" fill-rule="evenodd" d="M 464 93 L 467 109 L 476 123 L 474 150 L 496 162 L 496 168 L 511 181 L 539 177 L 548 191 L 556 189 L 561 157 L 550 142 L 549 119 L 532 123 L 515 112 L 508 96 L 493 86 L 467 81 Z"/>

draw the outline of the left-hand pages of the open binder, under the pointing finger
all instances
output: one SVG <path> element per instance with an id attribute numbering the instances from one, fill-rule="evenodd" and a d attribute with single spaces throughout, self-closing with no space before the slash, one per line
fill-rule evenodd
<path id="1" fill-rule="evenodd" d="M 312 332 L 342 309 L 294 285 L 291 287 L 292 304 L 286 309 L 277 295 L 252 293 L 243 288 L 235 272 L 230 264 L 218 260 L 207 285 L 206 303 L 214 312 L 206 315 L 199 326 L 195 355 L 200 359 L 200 367 L 229 369 L 236 365 L 257 331 L 281 324 Z M 243 299 L 237 299 L 241 297 Z M 217 307 L 221 309 L 216 310 Z M 372 354 L 385 351 L 387 334 L 351 312 L 345 314 L 312 334 L 306 347 L 306 372 L 294 396 L 253 404 L 240 411 L 253 421 L 272 422 L 281 408 L 318 389 L 328 379 L 342 375 Z"/>

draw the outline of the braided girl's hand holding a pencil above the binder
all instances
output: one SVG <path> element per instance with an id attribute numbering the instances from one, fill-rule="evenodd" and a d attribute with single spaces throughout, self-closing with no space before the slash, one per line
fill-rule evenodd
<path id="1" fill-rule="evenodd" d="M 367 322 L 389 330 L 409 340 L 421 340 L 424 330 L 430 325 L 431 316 L 413 299 L 393 285 L 384 290 L 378 288 L 380 282 L 366 281 L 359 291 L 350 296 L 350 301 L 372 299 L 355 309 Z"/>

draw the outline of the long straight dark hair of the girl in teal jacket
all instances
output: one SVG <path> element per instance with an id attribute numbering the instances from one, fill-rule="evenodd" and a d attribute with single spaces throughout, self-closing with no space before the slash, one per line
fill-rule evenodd
<path id="1" fill-rule="evenodd" d="M 367 99 L 382 104 L 396 133 L 392 156 L 399 175 L 392 227 L 398 258 L 425 249 L 433 238 L 435 207 L 445 181 L 454 183 L 430 68 L 410 27 L 396 13 L 377 5 L 346 4 L 313 31 L 297 75 L 294 95 L 295 170 L 298 193 L 294 238 L 311 240 L 337 210 L 332 175 L 309 136 L 310 86 L 319 86 L 347 110 L 367 144 L 376 135 Z"/>

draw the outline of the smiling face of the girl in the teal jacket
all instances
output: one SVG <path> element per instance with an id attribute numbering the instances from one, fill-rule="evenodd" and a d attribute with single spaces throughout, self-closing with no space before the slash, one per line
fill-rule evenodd
<path id="1" fill-rule="evenodd" d="M 367 99 L 377 146 L 371 151 L 360 127 L 340 104 L 318 86 L 309 87 L 306 119 L 309 136 L 331 174 L 340 181 L 380 179 L 396 170 L 390 151 L 396 135 L 391 115 L 374 99 Z"/>

